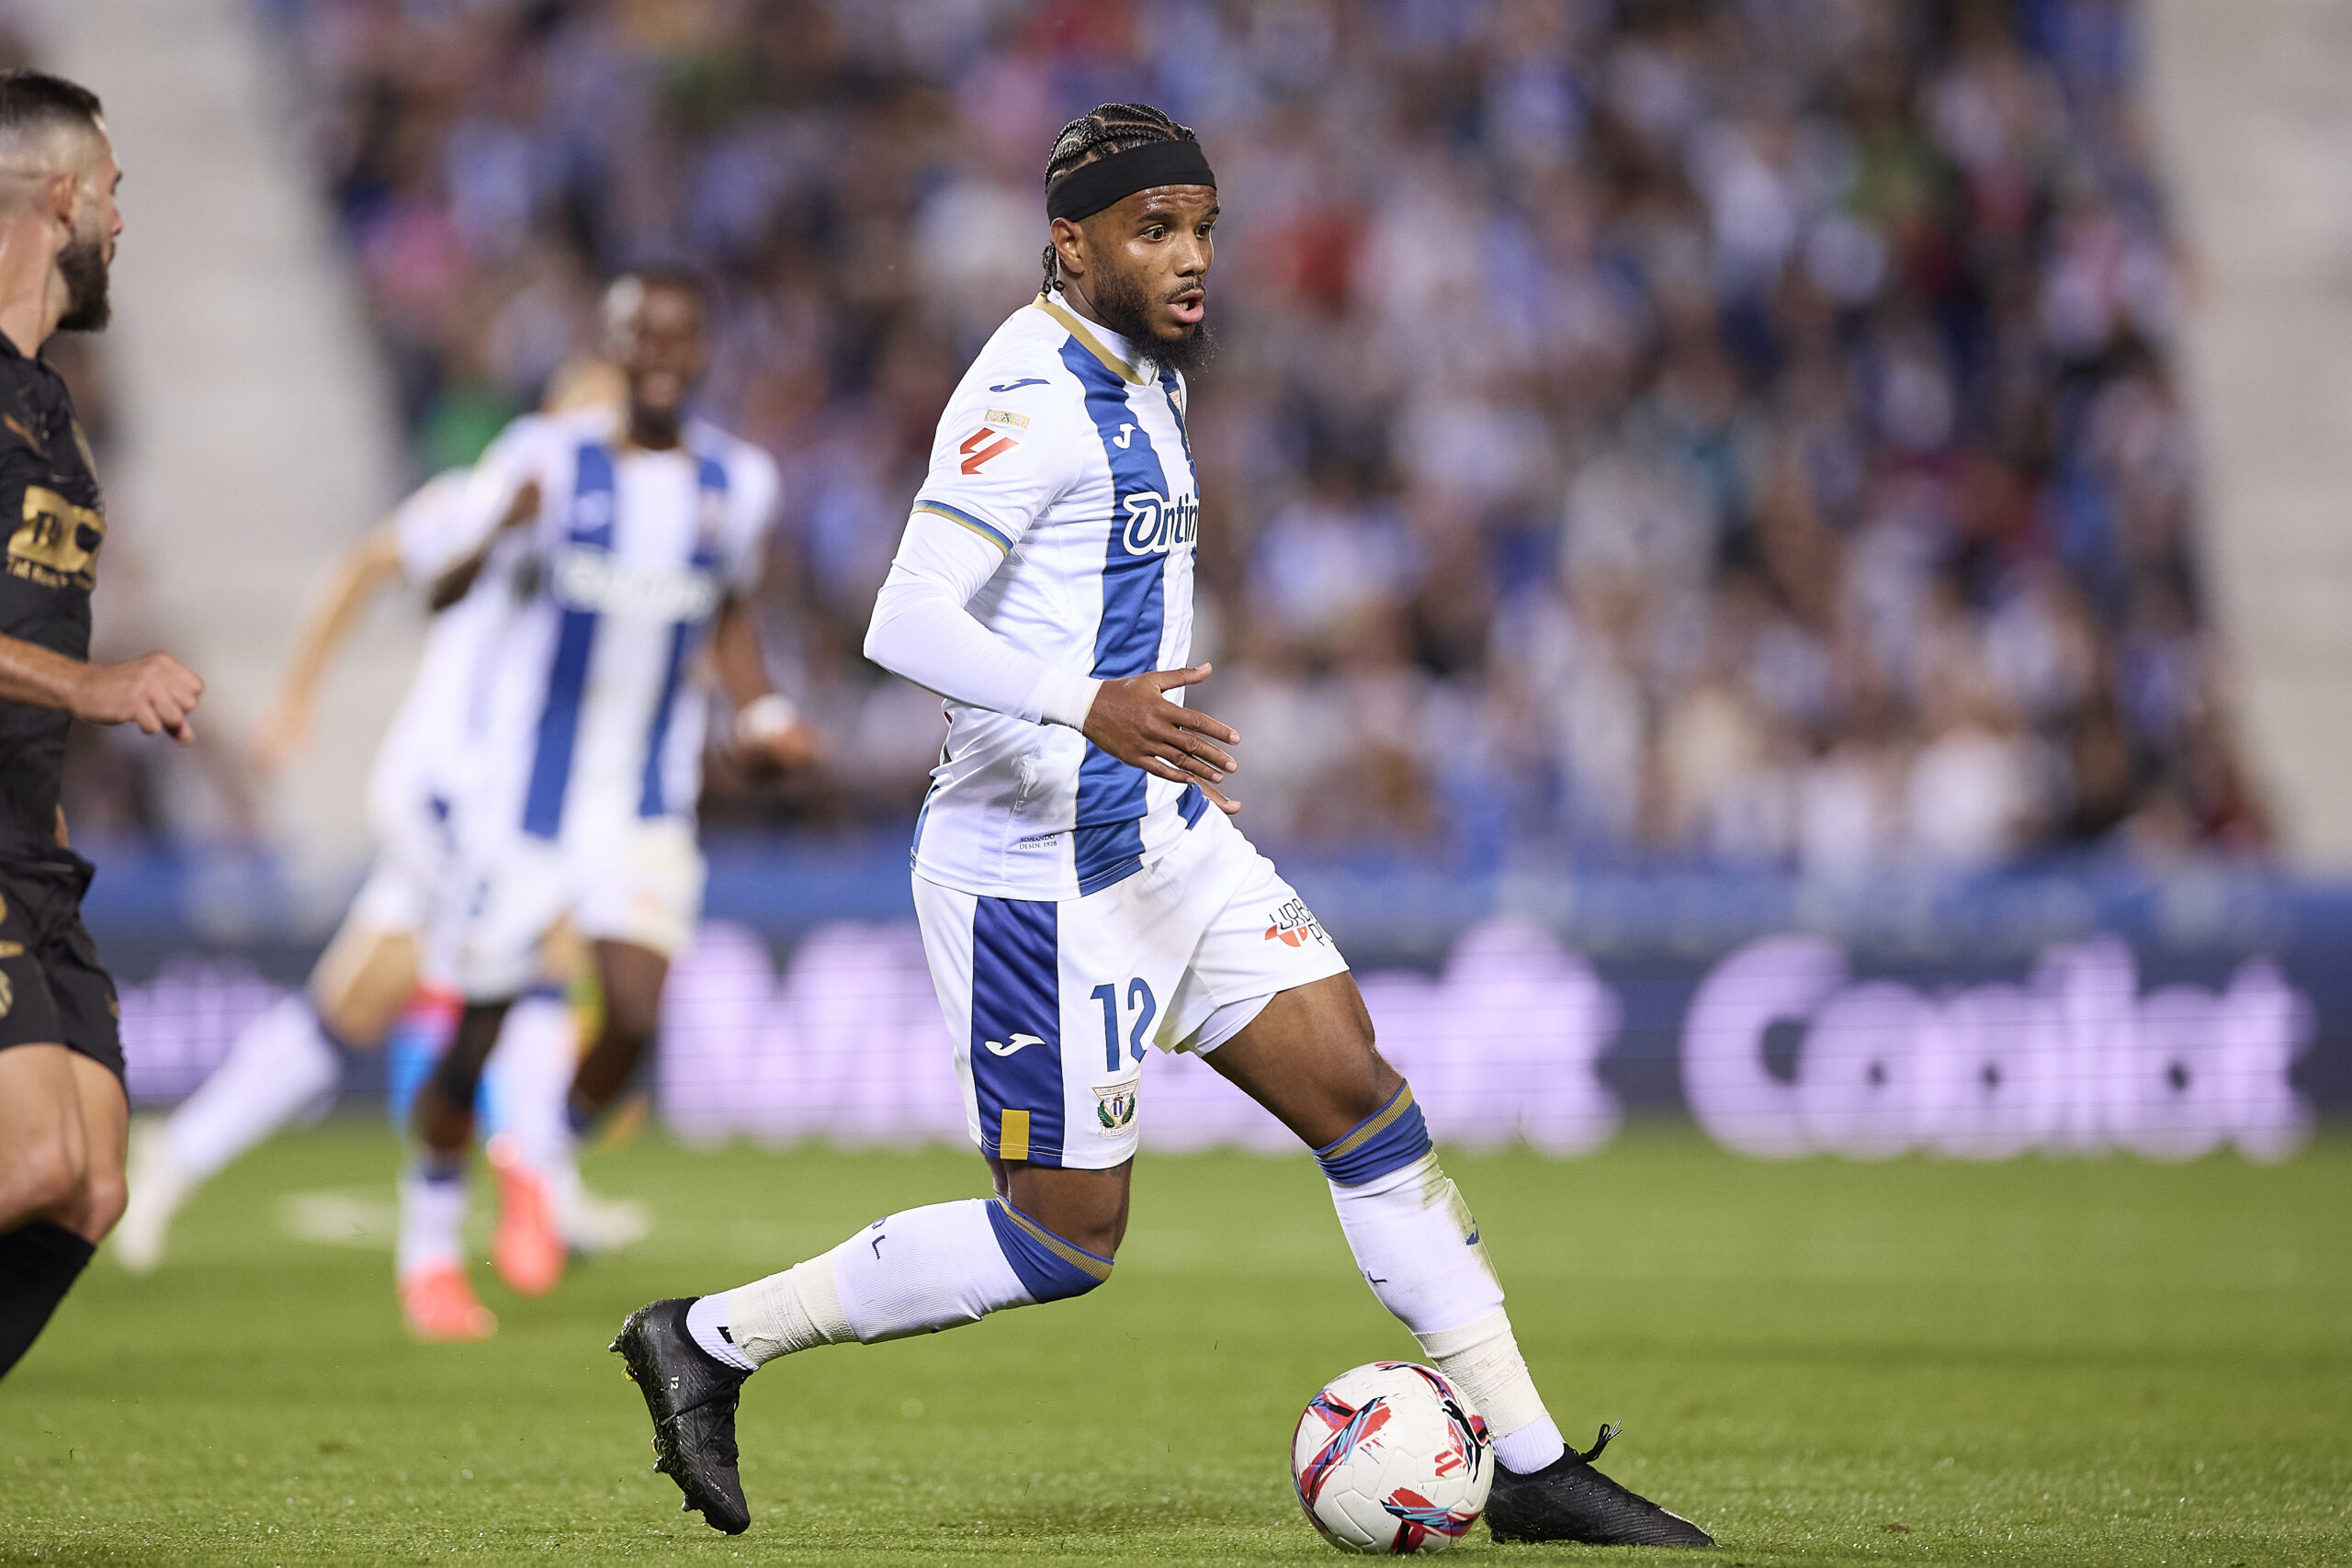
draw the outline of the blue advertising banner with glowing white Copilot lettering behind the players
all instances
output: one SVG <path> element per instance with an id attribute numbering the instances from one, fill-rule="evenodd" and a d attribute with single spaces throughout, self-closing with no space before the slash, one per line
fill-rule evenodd
<path id="1" fill-rule="evenodd" d="M 1355 964 L 1381 1048 L 1461 1145 L 1573 1154 L 1625 1117 L 1684 1114 L 1764 1159 L 2279 1159 L 2352 1112 L 2338 889 L 1291 870 Z M 299 983 L 315 943 L 252 924 L 252 877 L 183 875 L 176 905 L 113 919 L 94 900 L 134 1095 L 193 1088 Z M 207 886 L 245 889 L 247 931 L 207 931 Z M 656 1063 L 680 1135 L 964 1138 L 906 886 L 898 853 L 713 856 Z M 1268 940 L 1287 929 L 1270 922 Z M 1289 1147 L 1183 1053 L 1148 1065 L 1138 1119 L 1155 1147 Z"/>

